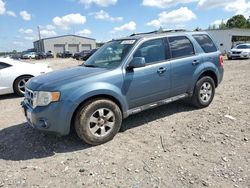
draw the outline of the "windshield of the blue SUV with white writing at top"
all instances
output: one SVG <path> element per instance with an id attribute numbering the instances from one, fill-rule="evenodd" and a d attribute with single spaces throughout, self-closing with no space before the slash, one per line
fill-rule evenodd
<path id="1" fill-rule="evenodd" d="M 123 59 L 134 46 L 136 40 L 114 40 L 106 43 L 84 64 L 86 67 L 114 69 L 121 65 Z"/>

